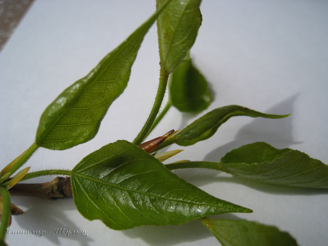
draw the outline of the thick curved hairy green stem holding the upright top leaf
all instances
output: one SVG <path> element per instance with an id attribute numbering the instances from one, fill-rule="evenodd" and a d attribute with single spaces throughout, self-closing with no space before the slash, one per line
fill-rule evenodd
<path id="1" fill-rule="evenodd" d="M 133 140 L 133 143 L 135 145 L 139 145 L 142 143 L 142 141 L 146 138 L 152 125 L 154 124 L 154 120 L 155 120 L 155 118 L 159 112 L 159 109 L 161 108 L 162 102 L 163 102 L 168 79 L 169 79 L 168 72 L 161 68 L 161 72 L 160 72 L 160 76 L 159 76 L 158 90 L 157 90 L 157 94 L 155 97 L 155 102 L 154 102 L 152 111 L 150 112 L 148 119 L 147 119 L 146 123 L 144 124 L 143 128 L 141 129 L 140 133 Z"/>

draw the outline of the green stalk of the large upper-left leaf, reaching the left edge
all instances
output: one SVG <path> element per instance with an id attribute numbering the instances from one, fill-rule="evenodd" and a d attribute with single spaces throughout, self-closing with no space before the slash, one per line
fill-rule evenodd
<path id="1" fill-rule="evenodd" d="M 20 156 L 10 162 L 4 169 L 2 169 L 0 175 L 0 184 L 7 179 L 11 174 L 17 171 L 25 162 L 31 157 L 31 155 L 39 148 L 36 143 L 33 143 L 30 148 L 23 152 Z"/>

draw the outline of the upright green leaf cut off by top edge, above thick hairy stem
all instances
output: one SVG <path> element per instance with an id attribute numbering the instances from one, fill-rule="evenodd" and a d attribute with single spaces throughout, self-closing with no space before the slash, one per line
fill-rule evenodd
<path id="1" fill-rule="evenodd" d="M 157 19 L 161 67 L 170 74 L 193 46 L 202 23 L 201 0 L 172 0 Z M 156 0 L 159 9 L 164 0 Z"/>

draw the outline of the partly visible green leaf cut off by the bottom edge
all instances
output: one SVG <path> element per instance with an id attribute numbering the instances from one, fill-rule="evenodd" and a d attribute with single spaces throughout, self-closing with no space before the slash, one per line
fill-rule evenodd
<path id="1" fill-rule="evenodd" d="M 202 218 L 200 221 L 222 246 L 297 246 L 292 236 L 275 226 L 247 220 Z"/>

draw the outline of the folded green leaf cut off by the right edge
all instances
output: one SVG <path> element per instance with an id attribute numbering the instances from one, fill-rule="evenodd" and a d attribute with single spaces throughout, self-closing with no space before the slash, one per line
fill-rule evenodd
<path id="1" fill-rule="evenodd" d="M 328 166 L 305 153 L 264 142 L 241 146 L 221 159 L 220 170 L 263 183 L 328 188 Z"/>

